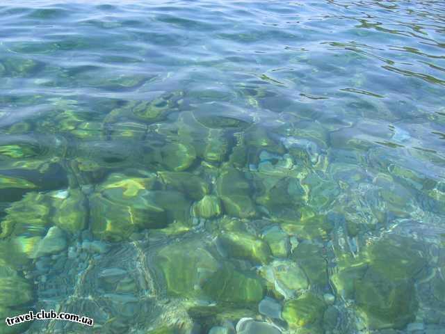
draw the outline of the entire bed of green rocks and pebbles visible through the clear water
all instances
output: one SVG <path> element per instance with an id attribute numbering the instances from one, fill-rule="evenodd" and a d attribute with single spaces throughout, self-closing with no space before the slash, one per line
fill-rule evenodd
<path id="1" fill-rule="evenodd" d="M 101 333 L 439 333 L 445 233 L 416 222 L 444 218 L 445 184 L 388 157 L 366 124 L 284 120 L 172 92 L 7 129 L 1 333 L 83 333 L 4 325 L 30 308 Z"/>

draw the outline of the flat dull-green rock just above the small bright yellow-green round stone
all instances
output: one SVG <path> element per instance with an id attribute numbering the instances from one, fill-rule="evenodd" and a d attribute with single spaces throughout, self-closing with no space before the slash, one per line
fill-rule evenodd
<path id="1" fill-rule="evenodd" d="M 176 189 L 193 200 L 200 200 L 209 193 L 209 184 L 202 177 L 187 172 L 159 172 L 167 188 Z"/>

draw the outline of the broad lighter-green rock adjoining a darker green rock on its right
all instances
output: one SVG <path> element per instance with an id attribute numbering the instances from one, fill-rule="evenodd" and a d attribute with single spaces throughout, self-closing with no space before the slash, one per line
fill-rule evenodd
<path id="1" fill-rule="evenodd" d="M 199 296 L 200 284 L 219 267 L 215 257 L 193 241 L 165 246 L 155 259 L 172 296 Z"/>

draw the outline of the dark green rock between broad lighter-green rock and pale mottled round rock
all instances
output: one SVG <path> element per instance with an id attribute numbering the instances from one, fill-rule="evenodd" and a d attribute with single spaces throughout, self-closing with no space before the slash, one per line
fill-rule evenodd
<path id="1" fill-rule="evenodd" d="M 211 299 L 229 303 L 259 303 L 264 297 L 264 287 L 258 276 L 237 271 L 229 263 L 209 276 L 202 289 Z"/>

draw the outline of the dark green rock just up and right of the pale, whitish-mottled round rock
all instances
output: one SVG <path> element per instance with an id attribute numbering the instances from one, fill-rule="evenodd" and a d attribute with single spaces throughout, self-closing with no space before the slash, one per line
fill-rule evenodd
<path id="1" fill-rule="evenodd" d="M 293 250 L 291 259 L 302 267 L 312 285 L 324 287 L 327 284 L 327 262 L 321 248 L 314 244 L 300 243 Z"/>

